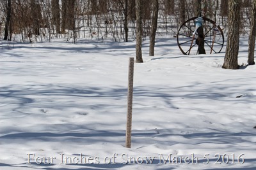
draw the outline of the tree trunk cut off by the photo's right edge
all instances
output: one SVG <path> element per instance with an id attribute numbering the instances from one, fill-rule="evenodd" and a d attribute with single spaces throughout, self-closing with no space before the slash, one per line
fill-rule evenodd
<path id="1" fill-rule="evenodd" d="M 248 48 L 248 64 L 254 65 L 254 50 L 255 50 L 255 36 L 256 36 L 256 0 L 253 0 L 252 9 L 252 28 L 249 36 L 249 48 Z"/>

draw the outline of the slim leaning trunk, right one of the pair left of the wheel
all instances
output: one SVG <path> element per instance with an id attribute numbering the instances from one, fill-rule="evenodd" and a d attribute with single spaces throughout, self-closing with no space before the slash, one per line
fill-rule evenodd
<path id="1" fill-rule="evenodd" d="M 151 34 L 150 34 L 150 45 L 149 45 L 149 55 L 150 56 L 154 56 L 156 30 L 157 30 L 157 19 L 158 19 L 158 10 L 159 10 L 158 0 L 154 0 L 154 3 L 153 3 L 152 26 L 151 26 Z"/>

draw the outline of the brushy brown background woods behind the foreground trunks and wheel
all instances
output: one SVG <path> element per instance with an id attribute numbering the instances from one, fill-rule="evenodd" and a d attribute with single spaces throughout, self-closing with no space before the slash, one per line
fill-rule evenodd
<path id="1" fill-rule="evenodd" d="M 159 34 L 177 33 L 179 26 L 196 17 L 196 0 L 159 0 Z M 143 36 L 150 35 L 154 0 L 141 0 Z M 147 8 L 145 8 L 147 6 Z M 248 34 L 252 0 L 243 0 L 241 34 Z M 227 0 L 202 0 L 202 15 L 227 27 Z M 113 38 L 136 36 L 136 0 L 2 0 L 1 39 L 50 41 L 52 38 Z M 224 29 L 225 30 L 225 29 Z"/>

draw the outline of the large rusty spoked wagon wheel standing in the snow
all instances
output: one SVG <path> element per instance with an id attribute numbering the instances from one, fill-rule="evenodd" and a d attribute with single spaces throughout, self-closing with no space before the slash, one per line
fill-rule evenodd
<path id="1" fill-rule="evenodd" d="M 197 54 L 198 53 L 198 45 L 196 45 L 196 39 L 198 37 L 198 33 L 196 32 L 195 36 L 193 36 L 193 32 L 195 31 L 195 19 L 190 18 L 186 22 L 184 22 L 178 31 L 177 34 L 177 43 L 180 48 L 180 51 L 185 54 Z M 206 53 L 220 53 L 223 45 L 224 45 L 224 35 L 223 31 L 219 25 L 213 20 L 203 17 L 203 29 L 204 29 L 204 48 Z"/>

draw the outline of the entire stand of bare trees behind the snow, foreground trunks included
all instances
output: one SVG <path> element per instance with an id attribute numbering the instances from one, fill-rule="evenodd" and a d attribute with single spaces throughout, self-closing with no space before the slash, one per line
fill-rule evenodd
<path id="1" fill-rule="evenodd" d="M 250 36 L 248 63 L 254 64 L 255 1 L 2 0 L 0 33 L 4 40 L 29 42 L 52 38 L 72 39 L 73 43 L 77 38 L 136 39 L 136 62 L 143 62 L 144 37 L 150 37 L 150 55 L 154 55 L 156 34 L 175 36 L 183 22 L 200 15 L 223 27 L 229 50 L 223 68 L 237 69 L 240 36 Z"/>

